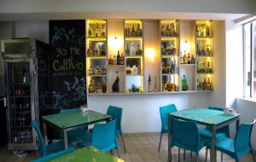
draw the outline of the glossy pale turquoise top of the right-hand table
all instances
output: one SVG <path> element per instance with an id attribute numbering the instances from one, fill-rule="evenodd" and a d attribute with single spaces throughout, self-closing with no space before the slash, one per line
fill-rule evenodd
<path id="1" fill-rule="evenodd" d="M 194 107 L 184 109 L 174 113 L 169 113 L 170 116 L 179 117 L 182 119 L 190 119 L 202 124 L 222 124 L 230 119 L 234 119 L 240 114 L 236 115 L 224 115 L 224 112 L 218 110 L 211 110 L 208 108 Z"/>

